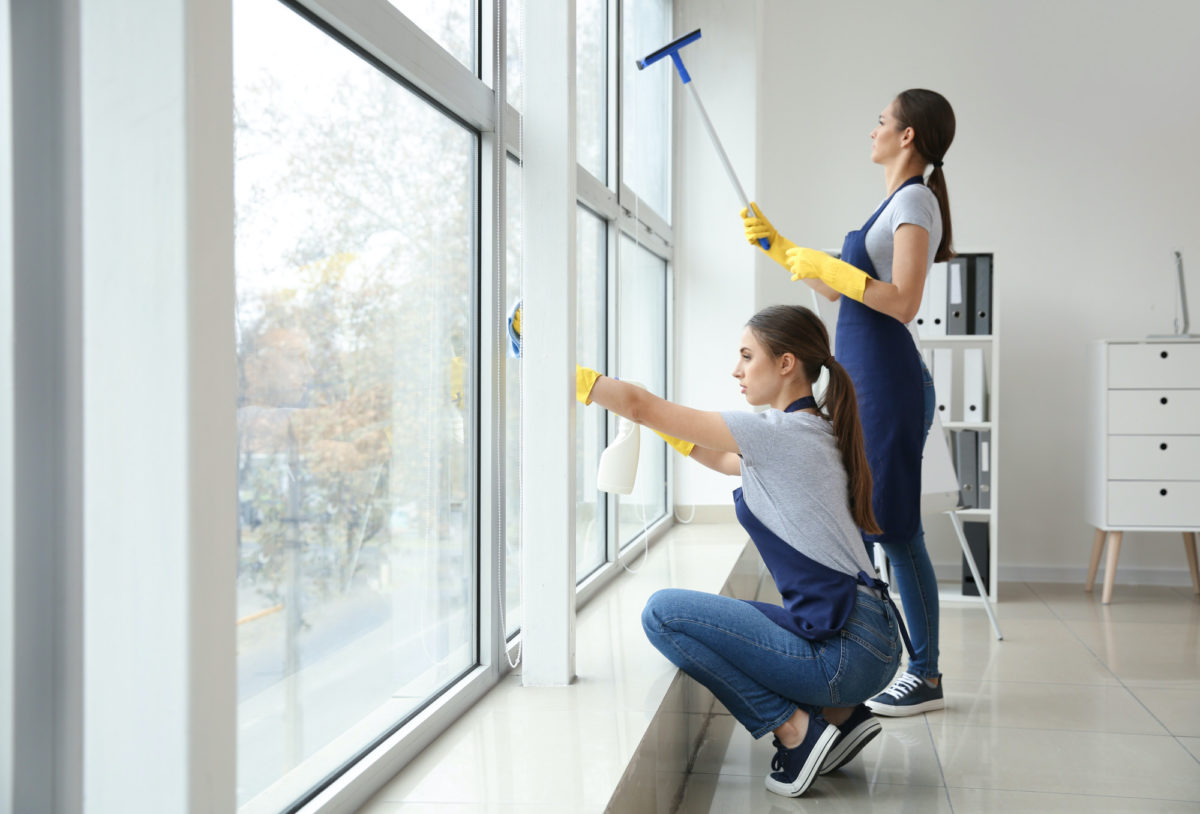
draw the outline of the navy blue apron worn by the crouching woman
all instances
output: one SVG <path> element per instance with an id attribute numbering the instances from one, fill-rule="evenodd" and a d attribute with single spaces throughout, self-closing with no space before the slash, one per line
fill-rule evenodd
<path id="1" fill-rule="evenodd" d="M 797 399 L 784 412 L 792 413 L 805 407 L 816 407 L 816 400 L 812 396 Z M 772 605 L 754 599 L 743 601 L 754 605 L 763 616 L 785 630 L 791 630 L 810 641 L 824 641 L 836 636 L 846 627 L 846 620 L 850 618 L 858 600 L 858 586 L 874 588 L 895 612 L 900 635 L 910 657 L 912 656 L 908 630 L 895 603 L 888 595 L 886 582 L 864 571 L 851 576 L 806 556 L 755 516 L 746 505 L 740 487 L 733 490 L 733 507 L 737 510 L 738 522 L 746 529 L 755 547 L 758 549 L 763 564 L 770 571 L 784 605 Z"/>

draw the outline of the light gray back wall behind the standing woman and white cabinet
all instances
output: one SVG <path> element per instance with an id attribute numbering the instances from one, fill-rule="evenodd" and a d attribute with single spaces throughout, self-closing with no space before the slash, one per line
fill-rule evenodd
<path id="1" fill-rule="evenodd" d="M 710 19 L 702 42 L 740 52 L 740 35 L 734 46 L 722 26 L 740 30 L 745 12 L 709 5 L 727 18 Z M 840 246 L 882 199 L 869 133 L 898 91 L 932 88 L 954 104 L 955 245 L 996 257 L 1002 576 L 1082 579 L 1092 538 L 1074 417 L 1090 397 L 1085 347 L 1171 330 L 1174 249 L 1200 292 L 1200 4 L 762 0 L 761 10 L 754 186 L 797 243 Z M 740 78 L 704 90 L 746 92 Z M 698 216 L 679 210 L 684 235 L 689 217 Z M 784 273 L 758 264 L 758 304 L 786 295 Z M 692 365 L 698 376 L 704 361 Z M 936 543 L 935 561 L 954 562 L 948 540 Z M 1168 569 L 1186 581 L 1181 547 L 1178 535 L 1128 534 L 1117 579 Z"/>

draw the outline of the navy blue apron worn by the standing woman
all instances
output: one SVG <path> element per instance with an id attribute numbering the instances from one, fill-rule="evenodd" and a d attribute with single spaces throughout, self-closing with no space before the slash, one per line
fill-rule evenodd
<path id="1" fill-rule="evenodd" d="M 900 185 L 920 184 L 914 175 Z M 892 203 L 888 196 L 862 229 L 846 235 L 841 259 L 878 280 L 866 253 L 866 233 Z M 871 507 L 882 534 L 865 543 L 907 543 L 920 523 L 920 456 L 925 447 L 925 397 L 922 361 L 908 329 L 848 297 L 838 310 L 835 355 L 858 394 L 866 461 L 871 467 Z"/>

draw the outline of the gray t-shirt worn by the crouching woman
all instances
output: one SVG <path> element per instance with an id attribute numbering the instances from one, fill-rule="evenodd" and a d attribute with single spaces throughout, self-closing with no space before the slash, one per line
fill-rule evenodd
<path id="1" fill-rule="evenodd" d="M 742 499 L 776 537 L 822 565 L 875 573 L 850 514 L 846 468 L 820 415 L 722 412 L 742 451 Z"/>

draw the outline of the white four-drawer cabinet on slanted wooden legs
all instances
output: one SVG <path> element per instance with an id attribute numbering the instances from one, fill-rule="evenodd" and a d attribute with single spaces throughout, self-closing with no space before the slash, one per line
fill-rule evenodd
<path id="1" fill-rule="evenodd" d="M 1085 508 L 1096 528 L 1086 589 L 1108 544 L 1103 600 L 1112 597 L 1127 531 L 1181 532 L 1200 593 L 1200 341 L 1100 340 L 1090 351 Z"/>

